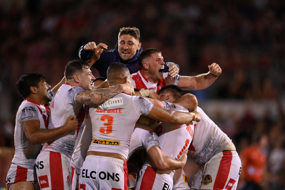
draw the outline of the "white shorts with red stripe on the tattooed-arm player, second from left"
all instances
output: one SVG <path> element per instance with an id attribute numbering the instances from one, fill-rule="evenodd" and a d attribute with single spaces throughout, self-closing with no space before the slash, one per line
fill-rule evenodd
<path id="1" fill-rule="evenodd" d="M 35 168 L 41 190 L 70 189 L 70 158 L 65 154 L 42 151 Z"/>

